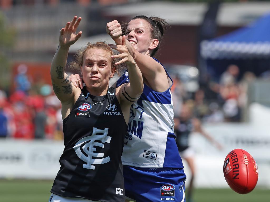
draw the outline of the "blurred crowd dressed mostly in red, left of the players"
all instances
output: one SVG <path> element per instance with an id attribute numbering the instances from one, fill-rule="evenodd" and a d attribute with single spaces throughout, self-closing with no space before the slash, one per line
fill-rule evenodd
<path id="1" fill-rule="evenodd" d="M 33 83 L 19 65 L 14 92 L 0 90 L 0 137 L 62 140 L 61 103 L 51 85 Z"/>

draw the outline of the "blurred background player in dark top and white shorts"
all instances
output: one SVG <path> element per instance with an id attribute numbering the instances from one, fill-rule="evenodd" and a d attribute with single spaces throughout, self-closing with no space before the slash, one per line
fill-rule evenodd
<path id="1" fill-rule="evenodd" d="M 222 149 L 222 146 L 203 130 L 201 121 L 193 117 L 192 109 L 192 103 L 185 102 L 182 105 L 180 116 L 177 114 L 174 116 L 177 147 L 180 156 L 185 159 L 191 172 L 190 184 L 187 192 L 188 202 L 192 201 L 193 182 L 196 170 L 194 164 L 195 151 L 189 145 L 190 134 L 192 132 L 197 132 L 207 138 L 207 140 L 214 144 L 218 149 Z"/>

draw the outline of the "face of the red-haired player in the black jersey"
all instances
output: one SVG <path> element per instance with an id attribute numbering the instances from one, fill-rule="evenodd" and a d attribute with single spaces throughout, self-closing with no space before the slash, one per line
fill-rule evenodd
<path id="1" fill-rule="evenodd" d="M 81 71 L 86 87 L 107 88 L 114 70 L 111 54 L 108 51 L 97 48 L 89 48 L 85 51 Z"/>

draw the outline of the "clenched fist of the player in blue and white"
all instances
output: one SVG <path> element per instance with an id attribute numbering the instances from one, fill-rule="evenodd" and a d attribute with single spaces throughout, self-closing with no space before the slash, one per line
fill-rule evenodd
<path id="1" fill-rule="evenodd" d="M 122 28 L 117 20 L 113 20 L 112 22 L 107 23 L 106 32 L 111 36 L 116 44 L 122 44 Z"/>

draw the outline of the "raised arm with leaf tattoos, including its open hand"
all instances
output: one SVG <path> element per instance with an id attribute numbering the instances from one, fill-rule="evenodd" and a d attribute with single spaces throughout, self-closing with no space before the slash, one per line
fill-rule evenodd
<path id="1" fill-rule="evenodd" d="M 77 89 L 73 88 L 72 83 L 65 73 L 69 47 L 74 44 L 81 36 L 82 32 L 76 34 L 76 29 L 82 18 L 75 16 L 60 30 L 59 46 L 53 57 L 50 76 L 52 79 L 53 91 L 63 103 L 70 103 L 74 100 Z"/>

